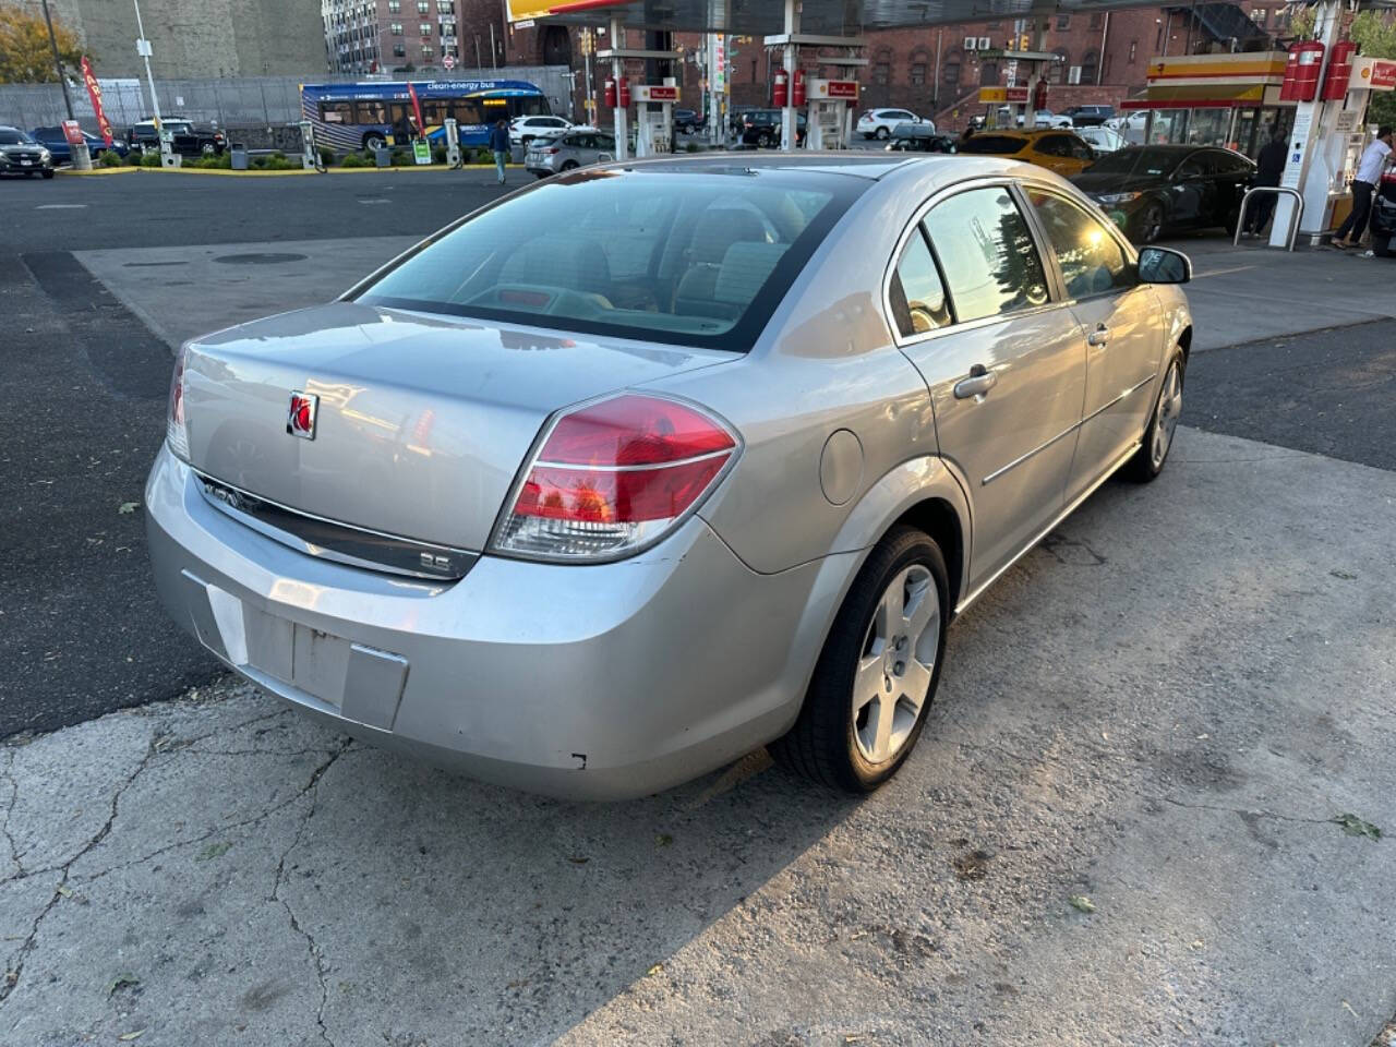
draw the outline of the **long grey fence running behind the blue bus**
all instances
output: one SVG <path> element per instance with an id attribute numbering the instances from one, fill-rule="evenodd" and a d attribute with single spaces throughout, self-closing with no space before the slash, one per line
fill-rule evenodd
<path id="1" fill-rule="evenodd" d="M 398 74 L 394 80 L 427 77 Z M 455 77 L 434 80 L 524 80 L 536 84 L 553 106 L 565 113 L 572 89 L 565 66 L 511 66 L 508 68 L 459 70 Z M 239 77 L 230 80 L 158 80 L 161 113 L 180 116 L 216 127 L 276 127 L 300 120 L 300 85 L 304 82 L 352 82 L 355 77 Z M 149 92 L 140 80 L 101 80 L 102 107 L 116 130 L 151 116 Z M 81 82 L 71 84 L 73 112 L 78 123 L 96 131 L 96 116 Z M 59 84 L 0 84 L 0 124 L 52 127 L 67 119 Z"/>

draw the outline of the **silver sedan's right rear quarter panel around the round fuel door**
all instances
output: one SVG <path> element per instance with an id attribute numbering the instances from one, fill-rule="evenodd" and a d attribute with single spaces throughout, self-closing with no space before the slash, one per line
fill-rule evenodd
<path id="1" fill-rule="evenodd" d="M 741 430 L 743 459 L 701 515 L 752 570 L 866 549 L 900 511 L 937 494 L 959 507 L 967 543 L 969 507 L 940 462 L 930 394 L 895 346 L 881 299 L 916 207 L 946 177 L 993 170 L 1002 163 L 946 156 L 886 176 L 815 253 L 744 360 L 662 383 Z M 856 437 L 860 458 L 840 501 L 821 483 L 838 430 Z"/>

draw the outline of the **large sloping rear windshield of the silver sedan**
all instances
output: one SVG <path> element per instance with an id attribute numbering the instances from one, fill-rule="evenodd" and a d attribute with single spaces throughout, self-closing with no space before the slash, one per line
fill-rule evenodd
<path id="1" fill-rule="evenodd" d="M 578 172 L 438 235 L 369 306 L 745 352 L 867 187 L 818 172 Z"/>

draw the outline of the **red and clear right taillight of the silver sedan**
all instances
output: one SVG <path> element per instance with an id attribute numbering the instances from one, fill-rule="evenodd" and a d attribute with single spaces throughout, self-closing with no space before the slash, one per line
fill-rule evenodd
<path id="1" fill-rule="evenodd" d="M 713 486 L 736 436 L 697 408 L 627 394 L 564 415 L 529 463 L 494 547 L 614 558 L 667 533 Z"/>

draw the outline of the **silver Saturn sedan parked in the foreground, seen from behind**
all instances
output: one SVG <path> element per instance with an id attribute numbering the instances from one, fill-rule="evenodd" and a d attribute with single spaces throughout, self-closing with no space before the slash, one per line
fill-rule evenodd
<path id="1" fill-rule="evenodd" d="M 482 779 L 632 797 L 771 744 L 870 790 L 951 618 L 1163 469 L 1189 275 L 1012 161 L 572 172 L 187 343 L 155 581 L 244 677 Z"/>

